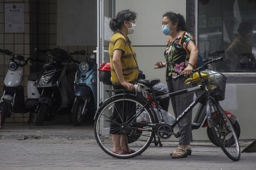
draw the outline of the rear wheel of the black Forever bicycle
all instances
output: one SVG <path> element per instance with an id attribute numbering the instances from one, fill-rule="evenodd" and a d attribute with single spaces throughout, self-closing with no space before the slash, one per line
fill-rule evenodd
<path id="1" fill-rule="evenodd" d="M 149 146 L 154 136 L 152 127 L 134 128 L 132 122 L 154 122 L 150 109 L 135 96 L 117 95 L 99 108 L 94 122 L 97 143 L 110 156 L 128 159 L 140 155 Z M 133 116 L 137 116 L 137 118 Z M 129 123 L 128 123 L 129 122 Z M 114 134 L 114 135 L 113 135 Z M 121 142 L 119 142 L 121 141 Z M 113 143 L 119 143 L 123 154 L 113 153 Z M 116 145 L 117 146 L 117 145 Z"/>

